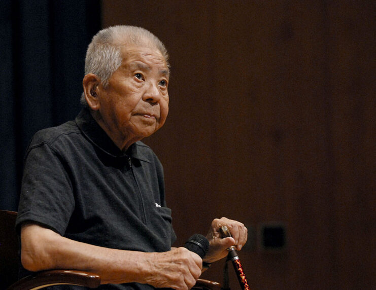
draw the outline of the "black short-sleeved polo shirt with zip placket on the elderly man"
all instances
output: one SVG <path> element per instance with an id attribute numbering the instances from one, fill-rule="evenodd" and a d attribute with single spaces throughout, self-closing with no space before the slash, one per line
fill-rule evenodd
<path id="1" fill-rule="evenodd" d="M 156 155 L 141 141 L 123 153 L 86 109 L 33 136 L 17 228 L 25 221 L 116 249 L 162 252 L 176 239 Z"/>

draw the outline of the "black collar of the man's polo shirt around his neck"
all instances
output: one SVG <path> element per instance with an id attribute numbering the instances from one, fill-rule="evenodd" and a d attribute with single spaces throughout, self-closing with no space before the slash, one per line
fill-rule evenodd
<path id="1" fill-rule="evenodd" d="M 76 117 L 75 121 L 82 133 L 102 152 L 112 157 L 131 157 L 150 162 L 148 158 L 140 154 L 138 150 L 138 142 L 131 144 L 126 152 L 121 151 L 107 135 L 107 133 L 94 120 L 88 108 L 83 108 Z"/>

